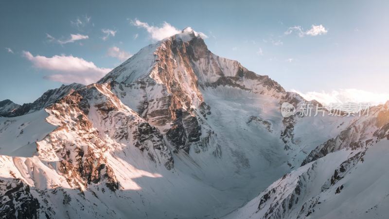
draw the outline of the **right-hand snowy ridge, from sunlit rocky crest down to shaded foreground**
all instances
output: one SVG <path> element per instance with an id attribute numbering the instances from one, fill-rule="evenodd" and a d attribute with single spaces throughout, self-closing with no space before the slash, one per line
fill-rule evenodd
<path id="1" fill-rule="evenodd" d="M 371 111 L 225 218 L 386 218 L 389 102 Z"/>

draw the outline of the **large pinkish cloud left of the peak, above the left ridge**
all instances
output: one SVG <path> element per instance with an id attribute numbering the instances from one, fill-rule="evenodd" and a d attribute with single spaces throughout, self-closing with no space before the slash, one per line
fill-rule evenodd
<path id="1" fill-rule="evenodd" d="M 72 55 L 46 57 L 42 55 L 34 56 L 28 51 L 23 51 L 23 56 L 31 61 L 34 67 L 53 72 L 46 75 L 45 78 L 62 83 L 77 82 L 88 85 L 98 81 L 111 71 L 111 69 L 99 68 L 93 62 Z"/>

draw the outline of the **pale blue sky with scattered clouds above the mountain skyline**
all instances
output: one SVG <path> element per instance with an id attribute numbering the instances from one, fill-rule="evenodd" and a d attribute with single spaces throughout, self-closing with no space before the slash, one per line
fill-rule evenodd
<path id="1" fill-rule="evenodd" d="M 157 31 L 191 26 L 214 54 L 307 97 L 382 100 L 388 11 L 384 0 L 1 1 L 0 100 L 32 102 L 100 77 L 156 40 L 136 20 Z"/>

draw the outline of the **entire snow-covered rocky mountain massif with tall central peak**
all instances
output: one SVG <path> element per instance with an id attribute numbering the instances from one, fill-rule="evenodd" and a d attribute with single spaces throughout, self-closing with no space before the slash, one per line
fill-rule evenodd
<path id="1" fill-rule="evenodd" d="M 308 217 L 313 198 L 329 200 L 340 182 L 357 180 L 338 172 L 327 182 L 322 168 L 334 173 L 348 161 L 349 171 L 367 148 L 385 149 L 388 105 L 369 117 L 283 118 L 283 102 L 316 103 L 212 54 L 191 28 L 95 84 L 62 86 L 22 106 L 2 101 L 0 215 L 294 218 L 305 201 Z M 318 182 L 325 189 L 312 192 Z"/>

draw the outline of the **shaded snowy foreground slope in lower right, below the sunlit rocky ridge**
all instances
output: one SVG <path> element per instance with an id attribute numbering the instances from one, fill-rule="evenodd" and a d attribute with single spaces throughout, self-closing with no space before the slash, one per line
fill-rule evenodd
<path id="1" fill-rule="evenodd" d="M 386 218 L 388 145 L 385 139 L 306 164 L 225 218 Z"/>

